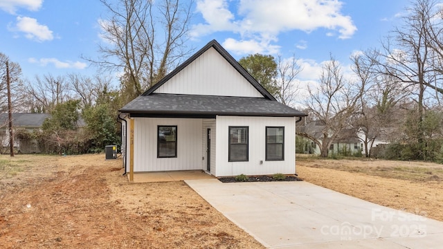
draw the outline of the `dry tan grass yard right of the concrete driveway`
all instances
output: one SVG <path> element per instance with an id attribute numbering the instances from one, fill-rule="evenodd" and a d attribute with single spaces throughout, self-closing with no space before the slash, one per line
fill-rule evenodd
<path id="1" fill-rule="evenodd" d="M 310 183 L 443 221 L 443 165 L 299 157 L 296 169 Z"/>

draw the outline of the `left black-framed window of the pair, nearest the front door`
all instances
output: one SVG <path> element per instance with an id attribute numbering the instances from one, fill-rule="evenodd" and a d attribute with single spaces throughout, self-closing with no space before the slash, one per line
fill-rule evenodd
<path id="1" fill-rule="evenodd" d="M 229 162 L 248 161 L 249 127 L 229 127 Z"/>

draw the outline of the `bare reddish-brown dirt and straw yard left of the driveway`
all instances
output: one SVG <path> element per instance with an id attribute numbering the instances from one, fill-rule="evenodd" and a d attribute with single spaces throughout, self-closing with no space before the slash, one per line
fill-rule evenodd
<path id="1" fill-rule="evenodd" d="M 104 155 L 0 156 L 2 248 L 262 248 L 183 182 Z"/>

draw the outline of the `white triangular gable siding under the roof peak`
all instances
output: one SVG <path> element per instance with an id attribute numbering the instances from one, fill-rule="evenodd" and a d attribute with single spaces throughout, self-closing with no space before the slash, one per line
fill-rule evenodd
<path id="1" fill-rule="evenodd" d="M 263 98 L 214 48 L 206 50 L 154 93 Z"/>

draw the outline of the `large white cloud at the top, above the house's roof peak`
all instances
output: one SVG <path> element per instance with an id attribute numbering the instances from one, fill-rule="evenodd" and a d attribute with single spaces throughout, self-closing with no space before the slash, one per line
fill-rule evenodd
<path id="1" fill-rule="evenodd" d="M 227 31 L 240 35 L 237 44 L 254 39 L 261 46 L 274 46 L 280 33 L 324 28 L 327 36 L 347 39 L 357 29 L 350 16 L 341 14 L 342 4 L 338 0 L 198 0 L 197 12 L 205 21 L 192 27 L 191 36 Z"/>

